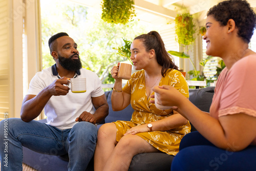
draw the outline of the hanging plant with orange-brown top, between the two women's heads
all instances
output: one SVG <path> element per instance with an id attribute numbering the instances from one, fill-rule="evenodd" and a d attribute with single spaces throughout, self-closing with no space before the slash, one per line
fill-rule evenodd
<path id="1" fill-rule="evenodd" d="M 175 18 L 176 41 L 182 45 L 190 45 L 195 41 L 195 25 L 193 17 L 189 13 L 178 14 Z"/>

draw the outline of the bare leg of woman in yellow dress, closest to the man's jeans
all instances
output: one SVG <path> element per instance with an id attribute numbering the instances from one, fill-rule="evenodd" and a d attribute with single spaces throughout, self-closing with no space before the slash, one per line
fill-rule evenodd
<path id="1" fill-rule="evenodd" d="M 105 123 L 98 131 L 97 144 L 94 153 L 94 170 L 103 170 L 106 161 L 117 144 L 115 123 Z"/>

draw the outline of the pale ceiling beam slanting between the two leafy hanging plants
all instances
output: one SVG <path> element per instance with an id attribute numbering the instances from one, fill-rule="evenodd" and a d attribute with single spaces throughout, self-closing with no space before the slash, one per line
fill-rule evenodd
<path id="1" fill-rule="evenodd" d="M 143 0 L 135 0 L 135 7 L 160 16 L 175 19 L 177 12 Z"/>

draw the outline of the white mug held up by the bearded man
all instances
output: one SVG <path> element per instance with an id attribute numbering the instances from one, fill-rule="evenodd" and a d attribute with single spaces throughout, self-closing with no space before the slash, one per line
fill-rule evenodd
<path id="1" fill-rule="evenodd" d="M 86 92 L 86 78 L 71 78 L 67 80 L 70 82 L 67 87 L 70 88 L 73 93 Z"/>

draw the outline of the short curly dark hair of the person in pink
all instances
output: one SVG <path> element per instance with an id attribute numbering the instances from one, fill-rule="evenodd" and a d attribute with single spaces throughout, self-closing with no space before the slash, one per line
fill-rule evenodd
<path id="1" fill-rule="evenodd" d="M 250 42 L 256 24 L 256 15 L 247 1 L 223 1 L 210 8 L 207 12 L 207 16 L 209 15 L 212 15 L 222 26 L 226 26 L 228 20 L 233 19 L 238 28 L 238 36 L 245 42 Z"/>

